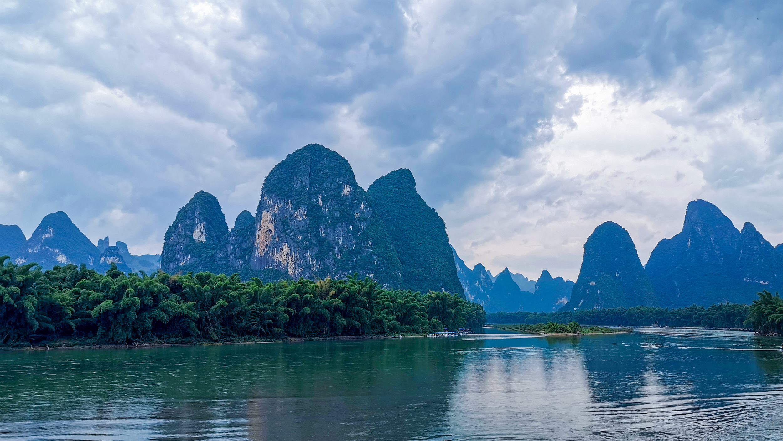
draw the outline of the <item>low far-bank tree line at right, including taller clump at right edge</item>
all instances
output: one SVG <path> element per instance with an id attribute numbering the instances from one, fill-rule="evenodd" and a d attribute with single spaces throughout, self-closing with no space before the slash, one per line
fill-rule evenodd
<path id="1" fill-rule="evenodd" d="M 720 303 L 668 309 L 651 306 L 612 309 L 576 309 L 557 313 L 492 313 L 490 324 L 566 324 L 576 322 L 599 326 L 668 326 L 751 328 L 763 335 L 783 335 L 783 299 L 767 291 L 758 294 L 752 305 Z"/>

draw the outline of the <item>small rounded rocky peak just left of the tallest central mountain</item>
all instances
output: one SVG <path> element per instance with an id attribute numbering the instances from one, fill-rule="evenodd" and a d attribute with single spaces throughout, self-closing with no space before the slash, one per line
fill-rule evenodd
<path id="1" fill-rule="evenodd" d="M 167 273 L 212 271 L 222 273 L 218 248 L 229 233 L 226 215 L 217 198 L 200 191 L 177 212 L 166 230 L 161 268 Z"/>

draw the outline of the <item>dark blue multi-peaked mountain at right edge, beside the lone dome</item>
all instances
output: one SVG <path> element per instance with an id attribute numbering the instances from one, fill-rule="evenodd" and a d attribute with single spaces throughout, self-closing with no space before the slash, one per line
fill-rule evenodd
<path id="1" fill-rule="evenodd" d="M 781 287 L 780 252 L 751 223 L 740 233 L 715 205 L 691 201 L 682 232 L 663 239 L 645 267 L 662 304 L 750 303 Z"/>

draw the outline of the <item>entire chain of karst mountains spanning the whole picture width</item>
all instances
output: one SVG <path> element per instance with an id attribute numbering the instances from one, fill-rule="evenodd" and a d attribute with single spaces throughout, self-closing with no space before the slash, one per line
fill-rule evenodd
<path id="1" fill-rule="evenodd" d="M 750 223 L 742 230 L 715 205 L 691 201 L 683 229 L 662 239 L 642 266 L 630 234 L 604 222 L 584 244 L 576 282 L 544 270 L 537 280 L 509 269 L 469 269 L 449 245 L 446 224 L 416 190 L 410 170 L 381 176 L 366 191 L 344 157 L 318 144 L 289 154 L 266 176 L 255 210 L 229 230 L 218 199 L 199 191 L 180 208 L 161 255 L 131 255 L 109 238 L 98 244 L 70 218 L 46 215 L 27 238 L 0 225 L 0 255 L 44 269 L 68 263 L 105 272 L 210 271 L 247 280 L 372 277 L 384 287 L 449 291 L 494 312 L 552 312 L 638 305 L 681 308 L 749 303 L 783 288 L 783 244 Z"/>

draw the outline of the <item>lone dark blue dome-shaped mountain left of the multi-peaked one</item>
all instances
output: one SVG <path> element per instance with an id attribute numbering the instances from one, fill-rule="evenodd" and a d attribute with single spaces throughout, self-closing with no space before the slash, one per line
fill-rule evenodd
<path id="1" fill-rule="evenodd" d="M 622 226 L 602 223 L 587 238 L 584 248 L 571 302 L 563 310 L 659 305 L 636 246 Z"/>

